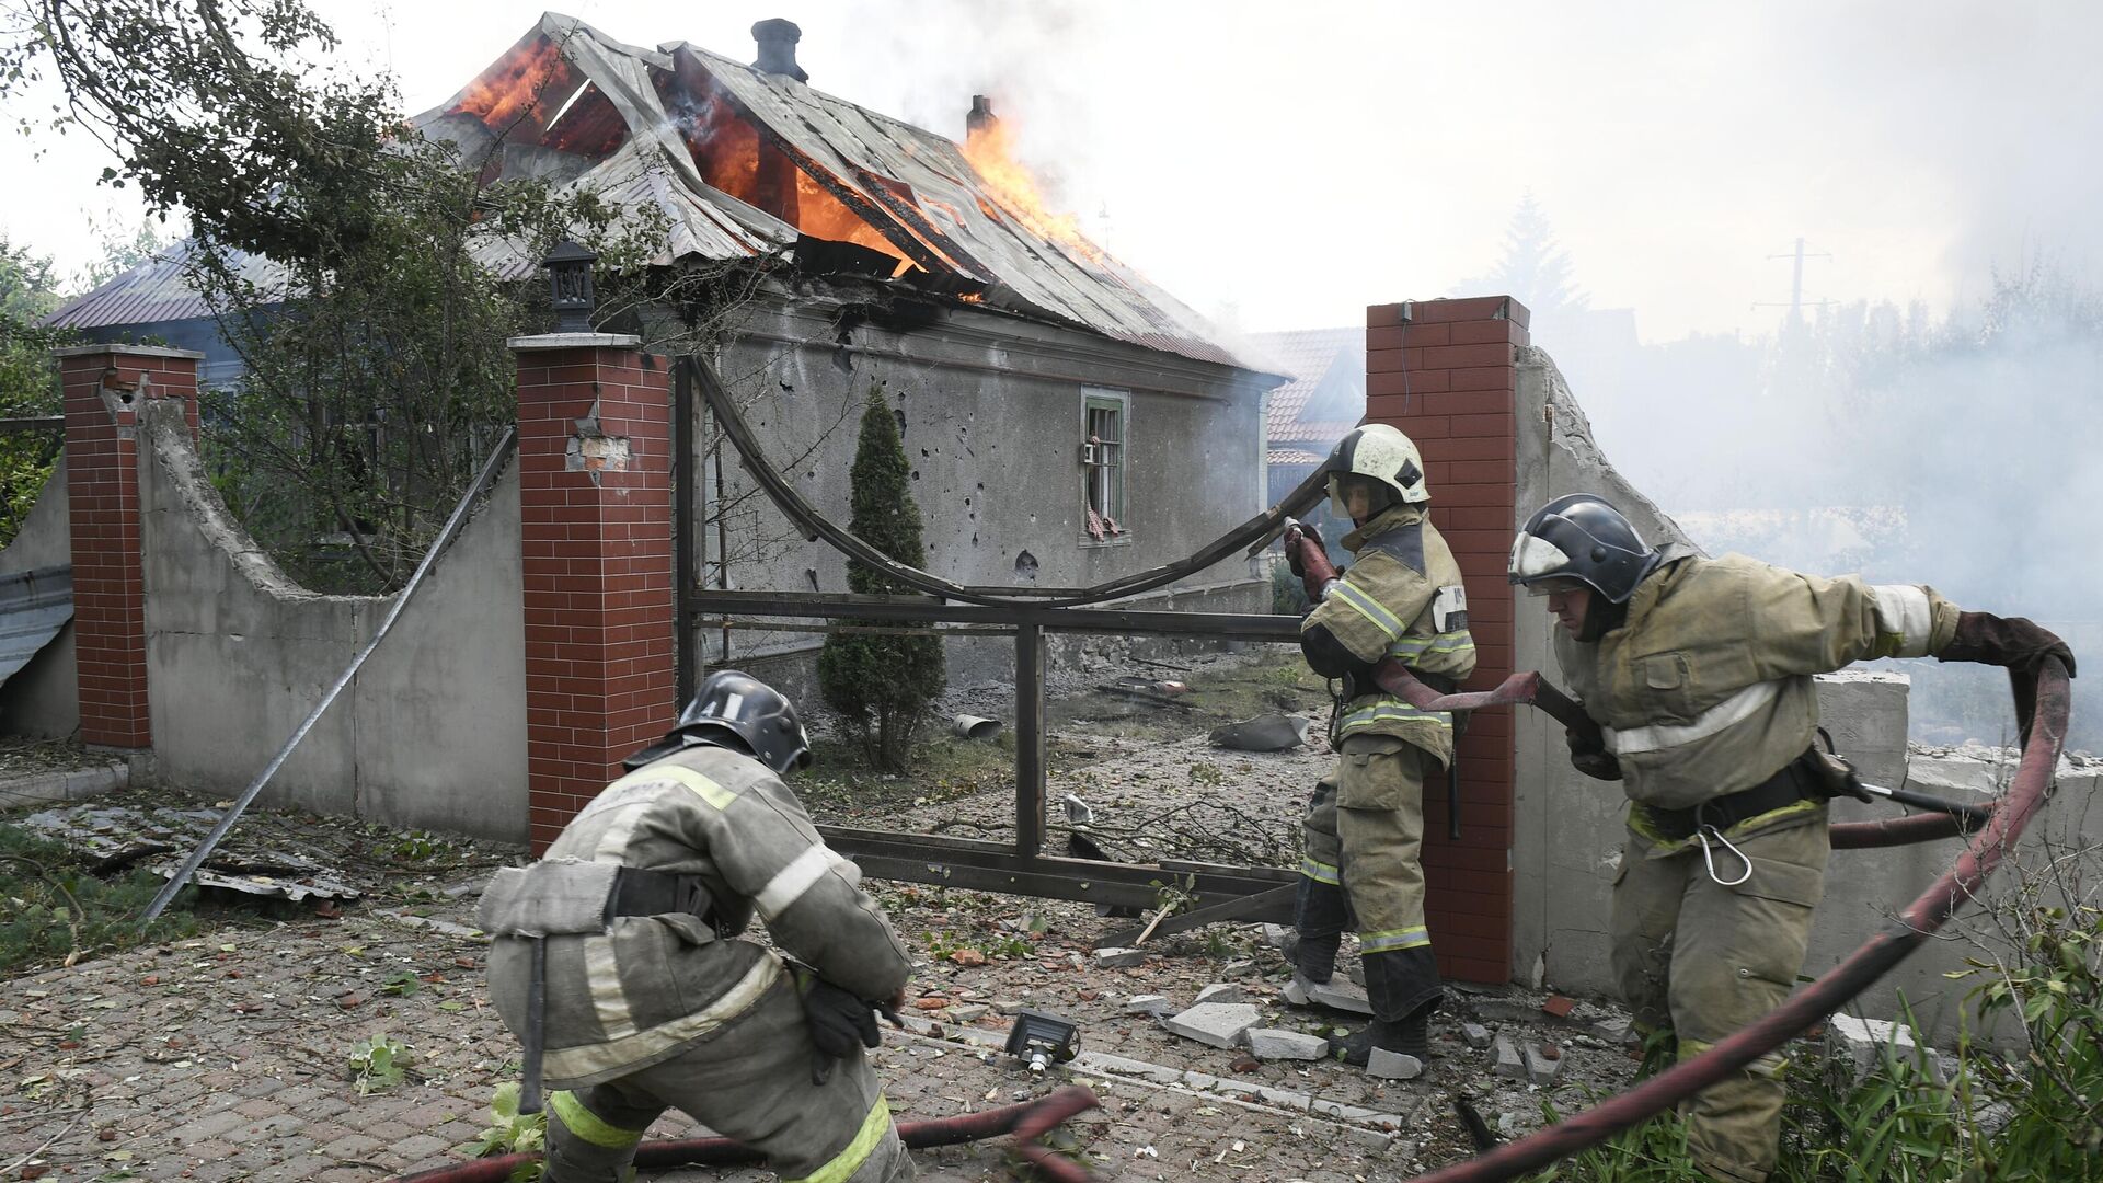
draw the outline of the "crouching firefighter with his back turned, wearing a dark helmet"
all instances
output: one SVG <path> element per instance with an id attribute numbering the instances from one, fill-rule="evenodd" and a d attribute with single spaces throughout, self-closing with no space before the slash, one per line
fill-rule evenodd
<path id="1" fill-rule="evenodd" d="M 627 1179 L 665 1109 L 782 1179 L 913 1177 L 862 1057 L 911 962 L 782 783 L 808 764 L 787 699 L 713 674 L 545 859 L 490 882 L 490 994 L 524 1097 L 551 1088 L 549 1183 Z M 753 914 L 801 964 L 738 939 Z"/>

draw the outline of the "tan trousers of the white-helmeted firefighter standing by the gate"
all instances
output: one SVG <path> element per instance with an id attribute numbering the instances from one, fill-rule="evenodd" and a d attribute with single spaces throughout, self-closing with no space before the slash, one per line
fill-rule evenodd
<path id="1" fill-rule="evenodd" d="M 1438 964 L 1424 926 L 1424 781 L 1438 758 L 1390 735 L 1344 739 L 1302 823 L 1306 857 L 1295 924 L 1302 968 L 1333 964 L 1346 916 L 1359 926 L 1367 996 L 1386 1021 L 1436 1004 Z M 1335 899 L 1342 888 L 1342 901 Z M 1312 975 L 1325 981 L 1327 975 Z M 1375 985 L 1377 983 L 1377 985 Z"/>

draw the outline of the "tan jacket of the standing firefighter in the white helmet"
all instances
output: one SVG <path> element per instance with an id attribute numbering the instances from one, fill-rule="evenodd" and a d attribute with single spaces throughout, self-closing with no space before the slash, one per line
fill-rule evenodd
<path id="1" fill-rule="evenodd" d="M 1451 764 L 1453 716 L 1420 711 L 1384 693 L 1369 674 L 1384 657 L 1455 682 L 1474 671 L 1459 564 L 1438 528 L 1424 518 L 1424 505 L 1396 505 L 1380 514 L 1344 535 L 1344 549 L 1352 552 L 1354 562 L 1300 623 L 1314 669 L 1348 676 L 1350 699 L 1344 703 L 1338 739 L 1392 735 L 1430 751 L 1441 764 Z M 1316 659 L 1321 648 L 1348 655 L 1348 669 L 1323 667 Z"/>

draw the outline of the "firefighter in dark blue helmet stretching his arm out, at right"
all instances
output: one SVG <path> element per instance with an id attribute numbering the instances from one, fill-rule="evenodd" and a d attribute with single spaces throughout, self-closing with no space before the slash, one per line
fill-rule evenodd
<path id="1" fill-rule="evenodd" d="M 1613 975 L 1645 1031 L 1682 1059 L 1767 1015 L 1796 981 L 1825 884 L 1828 800 L 1813 674 L 1874 657 L 2074 671 L 2023 619 L 1960 613 L 1920 585 L 1819 579 L 1743 556 L 1651 547 L 1607 501 L 1550 501 L 1518 533 L 1510 581 L 1548 598 L 1556 659 L 1600 724 L 1571 762 L 1632 802 L 1613 880 Z M 1781 1135 L 1781 1059 L 1682 1105 L 1695 1166 L 1758 1183 Z"/>

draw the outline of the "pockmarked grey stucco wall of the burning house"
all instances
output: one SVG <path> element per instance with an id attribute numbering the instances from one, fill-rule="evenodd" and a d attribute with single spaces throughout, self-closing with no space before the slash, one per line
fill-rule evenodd
<path id="1" fill-rule="evenodd" d="M 850 314 L 848 293 L 763 293 L 744 312 L 717 373 L 803 497 L 848 522 L 850 465 L 862 400 L 881 387 L 913 463 L 927 570 L 969 585 L 1083 587 L 1182 558 L 1264 509 L 1262 389 L 1268 379 L 984 309 L 936 320 Z M 845 326 L 843 326 L 845 324 Z M 1079 448 L 1083 389 L 1129 396 L 1127 535 L 1085 537 Z M 705 417 L 705 408 L 696 410 Z M 696 438 L 709 440 L 705 423 Z M 723 444 L 696 465 L 696 514 L 732 505 L 732 587 L 845 592 L 848 564 L 795 537 Z M 719 554 L 707 530 L 702 570 Z M 763 541 L 763 554 L 753 554 Z M 1262 613 L 1264 573 L 1234 556 L 1146 600 L 1150 608 Z M 721 634 L 702 629 L 715 661 Z M 814 634 L 732 636 L 734 657 L 816 650 Z M 1012 646 L 951 642 L 951 678 L 1001 678 Z"/>

